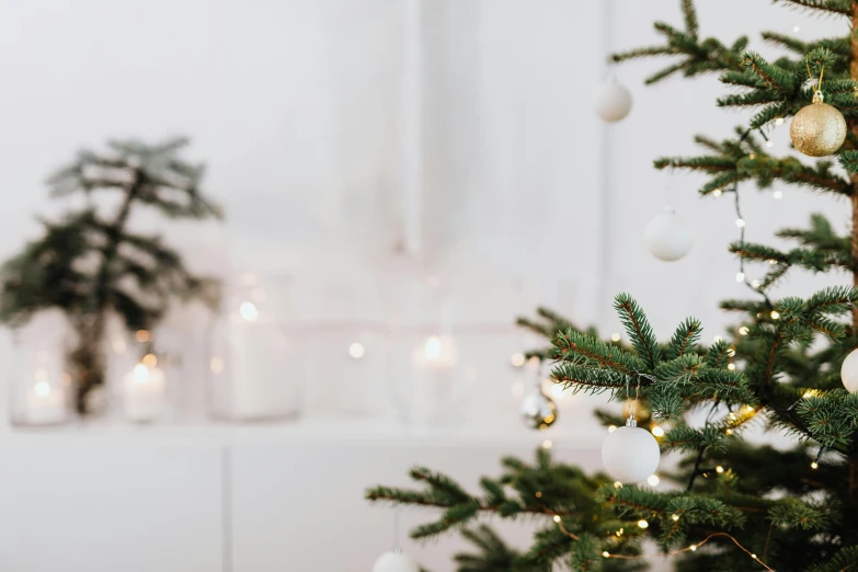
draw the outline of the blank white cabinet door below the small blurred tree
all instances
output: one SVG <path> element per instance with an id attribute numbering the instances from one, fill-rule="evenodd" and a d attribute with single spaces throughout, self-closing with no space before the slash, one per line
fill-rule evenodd
<path id="1" fill-rule="evenodd" d="M 217 572 L 220 467 L 215 444 L 1 442 L 0 570 Z"/>

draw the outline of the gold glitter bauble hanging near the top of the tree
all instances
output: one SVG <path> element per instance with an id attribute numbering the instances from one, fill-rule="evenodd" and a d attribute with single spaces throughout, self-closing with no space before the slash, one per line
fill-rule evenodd
<path id="1" fill-rule="evenodd" d="M 813 103 L 802 107 L 792 118 L 789 137 L 796 149 L 810 157 L 832 155 L 846 140 L 846 119 L 835 107 L 822 102 L 822 93 L 813 94 Z"/>

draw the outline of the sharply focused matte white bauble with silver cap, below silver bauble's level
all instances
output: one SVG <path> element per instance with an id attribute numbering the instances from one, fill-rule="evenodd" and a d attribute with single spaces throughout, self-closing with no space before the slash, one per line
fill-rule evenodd
<path id="1" fill-rule="evenodd" d="M 659 468 L 659 443 L 633 419 L 608 434 L 602 446 L 602 462 L 614 479 L 622 483 L 643 482 Z"/>

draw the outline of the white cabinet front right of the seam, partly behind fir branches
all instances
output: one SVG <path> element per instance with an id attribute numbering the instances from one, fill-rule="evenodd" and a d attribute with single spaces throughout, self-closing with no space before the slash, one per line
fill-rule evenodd
<path id="1" fill-rule="evenodd" d="M 373 484 L 409 485 L 414 465 L 446 471 L 476 488 L 482 474 L 497 474 L 504 455 L 531 458 L 534 447 L 461 439 L 444 443 L 387 441 L 376 444 L 238 445 L 232 453 L 234 572 L 283 570 L 368 571 L 378 556 L 392 548 L 393 511 L 363 499 Z M 564 460 L 596 469 L 599 450 L 564 448 Z M 401 514 L 402 548 L 433 572 L 453 571 L 451 557 L 465 548 L 456 535 L 415 545 L 407 531 L 432 519 L 434 513 Z M 528 546 L 530 525 L 504 523 L 505 538 Z"/>

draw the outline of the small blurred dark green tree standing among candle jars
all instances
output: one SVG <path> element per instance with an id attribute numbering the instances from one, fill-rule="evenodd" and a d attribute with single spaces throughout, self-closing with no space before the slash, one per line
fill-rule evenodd
<path id="1" fill-rule="evenodd" d="M 60 220 L 43 219 L 44 236 L 0 268 L 0 321 L 21 327 L 48 308 L 68 318 L 76 334 L 68 364 L 80 413 L 87 412 L 90 392 L 104 384 L 112 317 L 130 331 L 148 331 L 174 299 L 217 302 L 217 281 L 190 273 L 160 236 L 128 229 L 138 206 L 169 218 L 220 218 L 220 208 L 199 191 L 203 167 L 180 157 L 186 145 L 184 138 L 151 146 L 111 141 L 107 152 L 78 152 L 48 185 L 55 197 L 84 194 L 88 206 Z M 118 195 L 111 216 L 92 203 L 101 193 Z"/>

